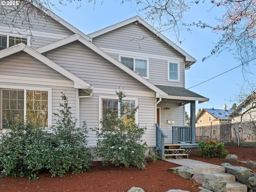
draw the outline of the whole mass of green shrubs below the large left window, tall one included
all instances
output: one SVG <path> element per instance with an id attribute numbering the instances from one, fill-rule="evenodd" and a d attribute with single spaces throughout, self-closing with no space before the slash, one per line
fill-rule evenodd
<path id="1" fill-rule="evenodd" d="M 0 137 L 1 176 L 28 176 L 38 179 L 42 170 L 49 170 L 52 176 L 65 176 L 90 169 L 91 154 L 86 149 L 86 124 L 76 128 L 68 100 L 62 95 L 64 104 L 52 126 L 52 133 L 39 128 L 33 122 L 8 120 L 8 131 Z"/>

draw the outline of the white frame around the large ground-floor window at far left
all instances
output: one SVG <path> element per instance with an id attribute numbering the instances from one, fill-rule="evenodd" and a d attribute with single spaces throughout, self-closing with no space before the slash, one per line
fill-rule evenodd
<path id="1" fill-rule="evenodd" d="M 52 88 L 0 85 L 0 130 L 2 129 L 2 89 L 24 90 L 24 120 L 26 120 L 26 90 L 48 92 L 48 127 L 52 125 Z"/>

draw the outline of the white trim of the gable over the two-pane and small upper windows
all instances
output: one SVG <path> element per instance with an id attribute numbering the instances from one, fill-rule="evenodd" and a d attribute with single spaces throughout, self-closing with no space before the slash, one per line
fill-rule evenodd
<path id="1" fill-rule="evenodd" d="M 180 54 L 182 54 L 185 57 L 185 67 L 188 68 L 190 67 L 192 64 L 194 64 L 196 62 L 196 59 L 193 58 L 191 55 L 189 55 L 187 52 L 185 52 L 182 48 L 180 48 L 179 46 L 177 46 L 174 42 L 172 42 L 171 40 L 169 40 L 168 38 L 166 38 L 163 34 L 161 34 L 158 30 L 156 30 L 154 27 L 152 27 L 150 24 L 148 24 L 146 21 L 144 21 L 142 18 L 140 18 L 140 16 L 134 16 L 130 19 L 124 20 L 122 22 L 119 22 L 117 24 L 114 24 L 112 26 L 106 27 L 104 29 L 98 30 L 96 32 L 93 32 L 91 34 L 88 34 L 88 36 L 90 38 L 95 38 L 97 36 L 100 36 L 102 34 L 105 34 L 107 32 L 110 32 L 112 30 L 115 30 L 117 28 L 120 28 L 122 26 L 126 26 L 132 22 L 136 22 L 138 21 L 140 24 L 142 24 L 143 26 L 145 26 L 148 30 L 150 30 L 153 34 L 155 34 L 156 36 L 158 36 L 160 39 L 162 39 L 164 42 L 166 42 L 166 44 L 172 46 L 176 51 L 178 51 Z"/>

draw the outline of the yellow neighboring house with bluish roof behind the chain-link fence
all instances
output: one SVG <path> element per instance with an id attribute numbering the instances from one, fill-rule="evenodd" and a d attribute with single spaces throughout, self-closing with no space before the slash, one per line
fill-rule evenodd
<path id="1" fill-rule="evenodd" d="M 216 125 L 231 123 L 230 114 L 233 110 L 227 110 L 226 104 L 223 109 L 203 108 L 196 116 L 196 140 L 207 138 L 220 138 L 220 128 Z"/>

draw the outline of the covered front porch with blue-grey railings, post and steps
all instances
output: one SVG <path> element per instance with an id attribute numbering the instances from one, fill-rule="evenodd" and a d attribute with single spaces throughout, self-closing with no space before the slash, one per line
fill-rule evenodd
<path id="1" fill-rule="evenodd" d="M 168 96 L 159 96 L 157 101 L 156 153 L 162 160 L 168 156 L 166 154 L 173 154 L 174 157 L 174 153 L 193 154 L 198 147 L 196 101 L 201 103 L 209 99 L 181 87 L 158 86 L 158 88 Z M 190 104 L 189 126 L 185 126 L 186 104 Z"/>

